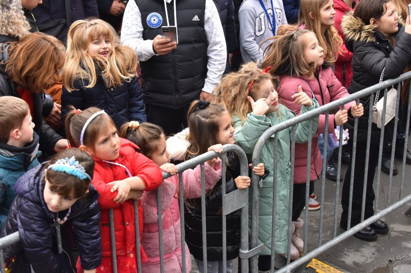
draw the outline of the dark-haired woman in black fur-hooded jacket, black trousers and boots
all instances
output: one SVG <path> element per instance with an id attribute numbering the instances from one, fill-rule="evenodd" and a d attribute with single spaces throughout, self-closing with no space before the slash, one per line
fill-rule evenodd
<path id="1" fill-rule="evenodd" d="M 399 22 L 394 4 L 389 0 L 360 1 L 354 12 L 343 18 L 342 30 L 346 36 L 345 45 L 352 56 L 352 80 L 348 92 L 353 94 L 379 82 L 384 71 L 383 80 L 400 76 L 411 60 L 411 26 L 407 17 L 405 26 Z M 383 92 L 379 99 L 383 99 Z M 352 151 L 352 139 L 348 140 L 351 155 L 356 153 L 352 192 L 351 226 L 361 222 L 361 206 L 364 184 L 365 159 L 368 157 L 368 176 L 365 188 L 365 215 L 367 219 L 374 215 L 373 201 L 375 194 L 372 188 L 378 163 L 381 130 L 377 124 L 371 125 L 371 142 L 369 154 L 366 154 L 368 107 L 372 107 L 370 96 L 360 99 L 364 105 L 364 115 L 359 118 L 357 149 Z M 367 107 L 368 106 L 368 107 Z M 353 120 L 346 123 L 350 134 L 353 134 Z M 391 145 L 394 133 L 394 119 L 385 125 L 384 147 Z M 340 226 L 347 229 L 349 188 L 351 165 L 345 175 L 342 200 L 343 213 Z M 381 220 L 372 223 L 354 234 L 366 241 L 377 240 L 377 234 L 387 234 L 388 226 Z"/>

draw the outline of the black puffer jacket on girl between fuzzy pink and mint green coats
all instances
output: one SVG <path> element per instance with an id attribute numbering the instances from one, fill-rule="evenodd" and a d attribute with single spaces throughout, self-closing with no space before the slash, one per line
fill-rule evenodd
<path id="1" fill-rule="evenodd" d="M 234 178 L 240 175 L 238 157 L 228 154 L 226 193 L 237 190 Z M 222 181 L 206 196 L 207 260 L 222 261 Z M 227 260 L 238 257 L 240 211 L 227 215 Z M 184 208 L 185 242 L 195 259 L 202 260 L 201 198 L 187 199 Z"/>

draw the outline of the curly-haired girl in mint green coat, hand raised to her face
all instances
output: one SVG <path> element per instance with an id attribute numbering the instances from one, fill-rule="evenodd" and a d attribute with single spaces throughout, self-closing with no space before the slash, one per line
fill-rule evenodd
<path id="1" fill-rule="evenodd" d="M 267 69 L 264 71 L 258 69 L 253 62 L 242 66 L 236 73 L 226 75 L 216 91 L 220 93 L 218 102 L 231 113 L 235 141 L 249 157 L 253 154 L 257 140 L 267 129 L 295 116 L 292 111 L 278 103 L 272 76 L 267 73 Z M 293 98 L 294 103 L 302 106 L 301 113 L 318 107 L 316 100 L 311 99 L 302 90 Z M 309 137 L 315 135 L 318 117 L 313 119 L 312 132 L 308 131 L 308 123 L 309 121 L 304 121 L 296 125 L 296 142 L 307 142 Z M 290 178 L 291 128 L 277 134 L 276 151 L 274 151 L 273 135 L 261 152 L 261 162 L 269 171 L 269 175 L 259 187 L 258 244 L 266 246 L 258 258 L 258 268 L 261 271 L 268 271 L 271 267 L 274 153 L 278 155 L 274 251 L 287 256 L 289 193 L 290 183 L 292 183 Z M 251 201 L 251 191 L 249 200 Z M 292 228 L 295 229 L 294 226 Z M 300 257 L 299 252 L 292 243 L 290 258 L 295 260 L 298 257 Z"/>

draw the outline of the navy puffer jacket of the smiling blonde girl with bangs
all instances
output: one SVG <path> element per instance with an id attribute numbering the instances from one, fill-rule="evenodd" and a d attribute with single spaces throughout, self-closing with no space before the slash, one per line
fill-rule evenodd
<path id="1" fill-rule="evenodd" d="M 85 110 L 89 107 L 98 107 L 106 111 L 113 118 L 116 127 L 120 129 L 125 122 L 136 120 L 145 122 L 147 117 L 144 112 L 143 93 L 138 78 L 132 81 L 123 81 L 118 88 L 107 88 L 101 75 L 98 76 L 96 85 L 84 88 L 81 80 L 74 81 L 77 90 L 68 92 L 63 87 L 61 95 L 62 119 L 65 120 L 68 106 Z"/>

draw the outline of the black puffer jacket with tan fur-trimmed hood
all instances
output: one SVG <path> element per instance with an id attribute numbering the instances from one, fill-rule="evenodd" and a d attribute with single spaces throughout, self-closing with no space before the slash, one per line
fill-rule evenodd
<path id="1" fill-rule="evenodd" d="M 343 17 L 341 28 L 346 35 L 345 45 L 353 53 L 352 81 L 348 92 L 353 94 L 379 82 L 385 67 L 383 80 L 400 76 L 411 60 L 411 35 L 404 32 L 404 26 L 399 24 L 397 33 L 392 36 L 396 40 L 393 47 L 390 41 L 373 25 L 353 16 L 353 12 Z M 379 99 L 383 99 L 384 91 L 380 92 Z M 359 118 L 357 141 L 366 142 L 368 127 L 368 107 L 373 101 L 369 96 L 361 98 L 364 105 L 364 115 Z M 352 129 L 353 121 L 348 120 L 347 126 Z M 384 145 L 389 145 L 393 138 L 394 119 L 385 125 Z M 371 127 L 371 144 L 379 145 L 380 129 L 375 123 Z"/>

